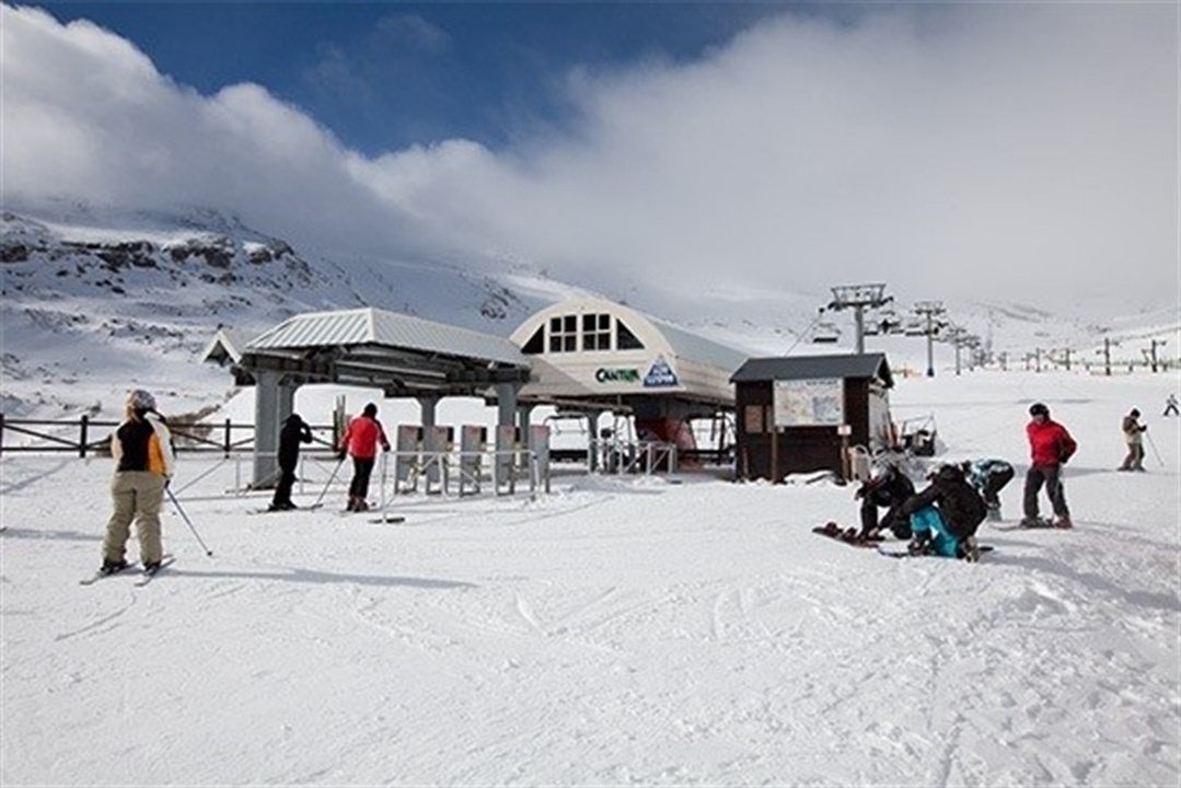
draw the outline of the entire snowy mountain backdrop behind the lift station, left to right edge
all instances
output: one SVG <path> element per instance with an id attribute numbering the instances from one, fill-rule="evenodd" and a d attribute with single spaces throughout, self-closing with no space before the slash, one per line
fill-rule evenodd
<path id="1" fill-rule="evenodd" d="M 588 292 L 528 262 L 327 254 L 296 249 L 217 210 L 150 213 L 66 201 L 2 214 L 0 274 L 0 409 L 39 417 L 113 415 L 132 385 L 208 410 L 229 383 L 195 359 L 222 326 L 250 334 L 299 312 L 367 305 L 507 336 L 537 308 Z M 830 293 L 738 291 L 724 274 L 705 286 L 678 282 L 671 272 L 670 282 L 668 292 L 619 282 L 615 292 L 595 294 L 752 354 L 853 347 L 850 311 L 817 313 Z M 902 317 L 913 300 L 929 297 L 894 295 Z M 1150 347 L 1175 359 L 1181 346 L 1176 305 L 1115 308 L 1108 314 L 1117 317 L 1102 319 L 1076 304 L 1063 305 L 1061 314 L 1020 304 L 946 306 L 950 321 L 980 337 L 994 356 L 1004 353 L 1011 369 L 1062 364 L 1068 349 L 1075 364 L 1101 364 L 1104 340 L 1113 363 L 1124 367 L 1143 363 Z M 821 321 L 836 332 L 835 344 L 813 344 Z M 885 351 L 898 367 L 926 366 L 921 337 L 881 333 L 867 337 L 866 347 Z M 954 357 L 951 345 L 939 345 L 937 367 L 952 369 Z"/>

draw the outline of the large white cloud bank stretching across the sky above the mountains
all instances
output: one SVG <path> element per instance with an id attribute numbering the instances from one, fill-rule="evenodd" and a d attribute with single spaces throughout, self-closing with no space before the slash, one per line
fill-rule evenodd
<path id="1" fill-rule="evenodd" d="M 573 72 L 569 135 L 367 158 L 263 87 L 201 97 L 110 33 L 5 7 L 4 189 L 211 204 L 326 248 L 503 254 L 590 286 L 1160 302 L 1176 14 L 783 17 L 694 63 Z"/>

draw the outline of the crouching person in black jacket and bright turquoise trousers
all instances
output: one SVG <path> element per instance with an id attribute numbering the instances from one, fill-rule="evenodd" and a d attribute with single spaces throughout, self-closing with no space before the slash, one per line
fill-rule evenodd
<path id="1" fill-rule="evenodd" d="M 978 561 L 976 529 L 987 513 L 984 499 L 959 465 L 940 465 L 929 478 L 926 489 L 902 504 L 901 513 L 911 517 L 914 532 L 909 551 Z"/>

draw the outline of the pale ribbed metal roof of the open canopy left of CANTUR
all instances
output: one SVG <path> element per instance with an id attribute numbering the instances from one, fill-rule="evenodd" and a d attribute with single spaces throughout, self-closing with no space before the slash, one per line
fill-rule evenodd
<path id="1" fill-rule="evenodd" d="M 508 339 L 373 307 L 298 314 L 256 337 L 248 351 L 381 345 L 528 367 Z"/>

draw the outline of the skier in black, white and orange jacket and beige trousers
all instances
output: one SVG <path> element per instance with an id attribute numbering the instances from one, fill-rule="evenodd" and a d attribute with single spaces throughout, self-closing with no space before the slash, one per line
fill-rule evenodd
<path id="1" fill-rule="evenodd" d="M 139 560 L 144 569 L 159 568 L 164 548 L 159 536 L 159 509 L 164 487 L 172 476 L 172 437 L 164 417 L 156 411 L 156 399 L 142 389 L 128 396 L 125 418 L 111 436 L 115 480 L 111 500 L 115 512 L 103 539 L 102 574 L 126 568 L 128 538 L 136 523 Z"/>

